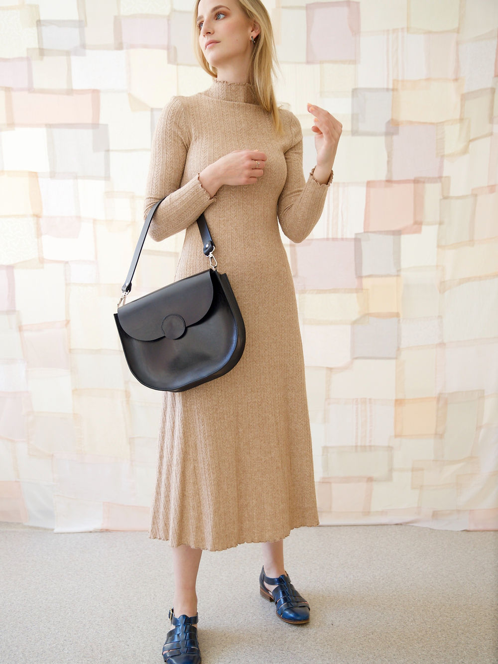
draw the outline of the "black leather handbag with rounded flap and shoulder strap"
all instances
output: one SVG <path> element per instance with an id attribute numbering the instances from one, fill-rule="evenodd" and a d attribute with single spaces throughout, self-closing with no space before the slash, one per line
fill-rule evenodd
<path id="1" fill-rule="evenodd" d="M 210 268 L 126 303 L 161 201 L 151 207 L 143 224 L 114 320 L 133 376 L 153 390 L 183 392 L 235 367 L 246 345 L 246 328 L 228 276 L 216 269 L 204 213 L 197 225 Z"/>

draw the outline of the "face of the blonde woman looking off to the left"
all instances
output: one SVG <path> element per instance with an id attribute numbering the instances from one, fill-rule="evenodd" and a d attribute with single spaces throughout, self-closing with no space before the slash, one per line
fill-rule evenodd
<path id="1" fill-rule="evenodd" d="M 240 9 L 237 0 L 200 0 L 197 7 L 199 45 L 210 66 L 235 64 L 246 58 L 253 46 L 252 24 Z M 208 46 L 208 42 L 216 43 Z"/>

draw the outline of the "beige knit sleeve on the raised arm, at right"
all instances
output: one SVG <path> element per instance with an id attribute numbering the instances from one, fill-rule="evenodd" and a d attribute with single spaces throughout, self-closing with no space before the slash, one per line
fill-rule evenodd
<path id="1" fill-rule="evenodd" d="M 284 234 L 292 242 L 302 242 L 320 218 L 332 173 L 326 183 L 319 183 L 311 169 L 307 181 L 303 175 L 303 131 L 294 114 L 291 116 L 291 147 L 284 153 L 287 179 L 278 197 L 277 214 Z"/>

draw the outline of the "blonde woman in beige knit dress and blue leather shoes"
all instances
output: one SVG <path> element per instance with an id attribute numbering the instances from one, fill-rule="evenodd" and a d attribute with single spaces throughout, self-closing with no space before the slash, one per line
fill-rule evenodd
<path id="1" fill-rule="evenodd" d="M 209 266 L 205 218 L 246 326 L 242 358 L 220 378 L 165 392 L 149 537 L 169 540 L 175 593 L 163 657 L 201 662 L 195 583 L 203 549 L 262 542 L 260 592 L 279 618 L 309 620 L 284 568 L 284 537 L 318 525 L 303 349 L 280 236 L 304 240 L 323 210 L 342 125 L 308 105 L 317 164 L 303 176 L 301 125 L 278 108 L 274 38 L 260 0 L 196 0 L 195 52 L 208 90 L 173 96 L 151 148 L 149 233 L 186 229 L 175 281 Z"/>

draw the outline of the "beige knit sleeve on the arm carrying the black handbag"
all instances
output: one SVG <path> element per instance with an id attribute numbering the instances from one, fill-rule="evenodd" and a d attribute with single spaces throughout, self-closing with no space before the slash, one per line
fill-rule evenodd
<path id="1" fill-rule="evenodd" d="M 154 130 L 143 218 L 165 196 L 154 212 L 149 235 L 159 242 L 190 226 L 216 201 L 199 180 L 199 173 L 180 187 L 190 144 L 185 110 L 178 96 L 163 108 Z"/>

